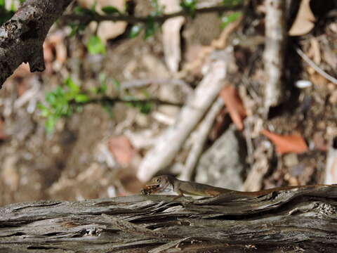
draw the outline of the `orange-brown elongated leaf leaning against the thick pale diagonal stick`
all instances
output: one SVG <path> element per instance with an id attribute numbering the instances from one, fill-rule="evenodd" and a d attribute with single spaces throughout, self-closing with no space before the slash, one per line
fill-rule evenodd
<path id="1" fill-rule="evenodd" d="M 244 118 L 246 117 L 246 109 L 242 103 L 237 89 L 232 85 L 223 87 L 220 91 L 220 96 L 223 98 L 232 121 L 237 126 L 237 129 L 244 129 Z"/>

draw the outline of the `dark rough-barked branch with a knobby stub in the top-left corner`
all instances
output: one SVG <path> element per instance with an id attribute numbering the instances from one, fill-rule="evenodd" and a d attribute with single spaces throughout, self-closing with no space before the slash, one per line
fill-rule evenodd
<path id="1" fill-rule="evenodd" d="M 21 63 L 44 71 L 43 43 L 51 25 L 72 0 L 27 0 L 0 27 L 0 88 Z"/>

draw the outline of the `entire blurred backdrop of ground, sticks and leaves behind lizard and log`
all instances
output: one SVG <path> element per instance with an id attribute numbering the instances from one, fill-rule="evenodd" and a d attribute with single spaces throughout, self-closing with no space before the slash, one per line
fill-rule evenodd
<path id="1" fill-rule="evenodd" d="M 138 194 L 156 174 L 235 190 L 337 183 L 336 1 L 284 2 L 283 26 L 267 28 L 262 0 L 74 1 L 46 38 L 46 70 L 22 64 L 0 90 L 0 205 Z M 1 24 L 18 6 L 0 1 Z M 268 29 L 285 31 L 279 57 Z"/>

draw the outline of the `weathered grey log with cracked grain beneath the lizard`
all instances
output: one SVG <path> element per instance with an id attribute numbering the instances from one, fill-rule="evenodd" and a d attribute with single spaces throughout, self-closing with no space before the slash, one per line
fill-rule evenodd
<path id="1" fill-rule="evenodd" d="M 133 195 L 0 208 L 0 252 L 336 252 L 337 186 L 249 199 Z"/>

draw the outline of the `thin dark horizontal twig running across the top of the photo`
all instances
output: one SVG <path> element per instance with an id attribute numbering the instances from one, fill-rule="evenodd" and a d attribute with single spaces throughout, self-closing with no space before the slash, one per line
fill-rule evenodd
<path id="1" fill-rule="evenodd" d="M 199 8 L 195 10 L 195 14 L 201 14 L 201 13 L 212 13 L 212 12 L 221 12 L 221 11 L 237 11 L 242 8 L 242 5 L 237 5 L 237 6 L 211 6 L 211 7 L 205 7 L 205 8 Z M 169 18 L 175 18 L 178 16 L 190 16 L 190 13 L 187 11 L 177 11 L 176 13 L 170 13 L 166 15 L 158 15 L 154 17 L 149 17 L 149 16 L 132 16 L 132 15 L 76 15 L 76 14 L 70 14 L 70 15 L 64 15 L 62 19 L 64 20 L 78 20 L 80 22 L 90 22 L 90 21 L 105 21 L 105 20 L 110 20 L 110 21 L 126 21 L 131 24 L 136 24 L 136 23 L 146 23 L 149 22 L 149 20 L 152 20 L 154 22 L 159 22 L 162 23 L 165 20 L 168 20 Z"/>

